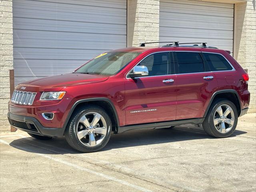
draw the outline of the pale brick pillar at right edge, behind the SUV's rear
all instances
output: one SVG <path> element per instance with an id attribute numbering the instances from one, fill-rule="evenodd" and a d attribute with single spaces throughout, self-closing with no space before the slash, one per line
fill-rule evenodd
<path id="1" fill-rule="evenodd" d="M 248 70 L 250 112 L 256 112 L 256 10 L 255 0 L 235 4 L 234 58 Z"/>

